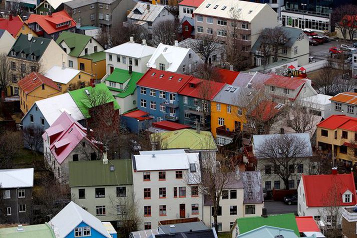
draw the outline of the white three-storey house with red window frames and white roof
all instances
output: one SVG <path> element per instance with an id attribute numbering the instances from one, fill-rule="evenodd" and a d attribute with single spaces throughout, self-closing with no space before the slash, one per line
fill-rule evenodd
<path id="1" fill-rule="evenodd" d="M 160 219 L 202 218 L 198 153 L 140 151 L 132 160 L 134 193 L 143 217 L 140 228 L 157 228 Z"/>

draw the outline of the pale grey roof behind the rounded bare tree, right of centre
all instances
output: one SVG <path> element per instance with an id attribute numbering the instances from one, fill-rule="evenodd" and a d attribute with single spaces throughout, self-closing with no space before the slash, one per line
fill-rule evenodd
<path id="1" fill-rule="evenodd" d="M 289 134 L 283 134 L 285 136 L 294 136 L 295 138 L 299 138 L 300 140 L 305 141 L 305 150 L 303 151 L 303 154 L 301 154 L 301 157 L 308 157 L 312 156 L 312 147 L 311 147 L 311 141 L 310 141 L 310 135 L 309 133 L 289 133 Z M 262 147 L 264 146 L 264 143 L 266 140 L 269 139 L 274 139 L 278 138 L 279 136 L 282 136 L 282 134 L 259 134 L 259 135 L 253 135 L 253 143 L 254 143 L 254 150 L 258 151 L 260 149 L 263 149 Z M 276 148 L 278 149 L 278 148 Z M 276 154 L 279 154 L 278 151 L 276 151 Z M 255 153 L 256 157 L 259 158 L 259 154 Z"/>

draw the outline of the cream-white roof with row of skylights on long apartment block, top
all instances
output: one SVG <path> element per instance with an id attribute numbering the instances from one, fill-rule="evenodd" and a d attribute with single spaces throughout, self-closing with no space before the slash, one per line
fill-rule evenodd
<path id="1" fill-rule="evenodd" d="M 208 6 L 208 4 L 210 5 Z M 214 8 L 216 5 L 218 6 Z M 226 7 L 224 10 L 222 10 L 224 6 Z M 239 10 L 239 18 L 251 22 L 251 20 L 259 13 L 261 9 L 270 6 L 266 3 L 263 4 L 241 0 L 205 0 L 193 13 L 232 18 L 232 13 L 230 13 L 231 7 L 238 8 L 238 10 L 241 9 Z"/>

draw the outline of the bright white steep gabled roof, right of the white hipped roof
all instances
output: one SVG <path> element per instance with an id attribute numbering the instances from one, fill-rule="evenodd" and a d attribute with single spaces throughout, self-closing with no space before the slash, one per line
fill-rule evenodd
<path id="1" fill-rule="evenodd" d="M 190 48 L 183 48 L 179 46 L 160 43 L 151 58 L 149 59 L 147 66 L 160 69 L 159 65 L 156 65 L 156 59 L 160 55 L 163 55 L 169 63 L 169 66 L 165 68 L 165 70 L 170 72 L 176 72 L 189 50 Z"/>

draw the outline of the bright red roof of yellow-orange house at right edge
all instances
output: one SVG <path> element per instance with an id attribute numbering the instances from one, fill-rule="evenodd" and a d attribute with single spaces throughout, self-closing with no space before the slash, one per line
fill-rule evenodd
<path id="1" fill-rule="evenodd" d="M 326 129 L 340 128 L 350 131 L 357 131 L 357 118 L 346 115 L 330 115 L 318 123 L 317 126 Z"/>

